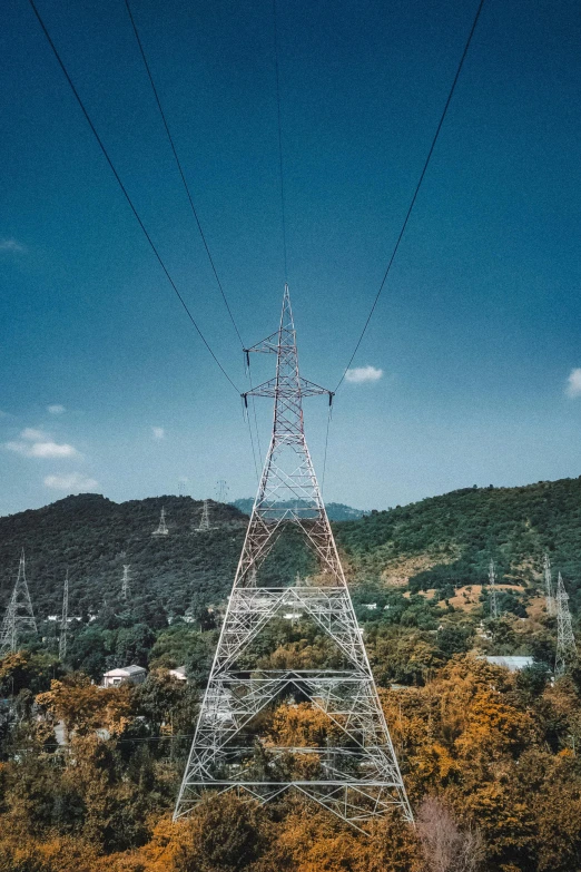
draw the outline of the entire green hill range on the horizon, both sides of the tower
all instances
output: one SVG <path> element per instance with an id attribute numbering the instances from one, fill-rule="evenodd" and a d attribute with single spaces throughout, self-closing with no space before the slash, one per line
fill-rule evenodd
<path id="1" fill-rule="evenodd" d="M 246 507 L 246 501 L 237 502 Z M 127 564 L 134 596 L 169 615 L 221 602 L 247 523 L 239 504 L 210 501 L 214 529 L 207 533 L 193 531 L 201 502 L 189 497 L 116 503 L 86 493 L 0 518 L 0 608 L 8 600 L 22 547 L 40 616 L 59 611 L 67 568 L 71 614 L 95 614 L 104 598 L 115 601 L 119 596 Z M 169 535 L 155 537 L 161 507 Z M 522 582 L 534 592 L 548 550 L 555 571 L 563 572 L 572 610 L 581 610 L 581 479 L 466 488 L 335 521 L 333 527 L 352 581 L 412 592 L 436 590 L 437 599 L 453 597 L 454 588 L 485 582 L 491 557 L 499 581 Z M 296 537 L 283 538 L 263 578 L 287 581 L 312 568 Z"/>

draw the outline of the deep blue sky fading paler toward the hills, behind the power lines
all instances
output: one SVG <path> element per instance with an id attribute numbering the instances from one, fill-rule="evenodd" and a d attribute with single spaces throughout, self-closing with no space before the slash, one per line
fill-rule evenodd
<path id="1" fill-rule="evenodd" d="M 144 221 L 240 390 L 243 355 L 121 0 L 38 0 Z M 270 0 L 134 0 L 245 343 L 283 292 Z M 334 388 L 475 4 L 279 3 L 288 280 L 303 374 Z M 7 0 L 0 513 L 256 488 L 240 400 L 173 296 L 24 0 Z M 328 500 L 384 508 L 581 473 L 581 17 L 486 0 L 406 235 L 337 393 Z M 257 379 L 269 378 L 270 359 Z M 569 390 L 568 390 L 569 389 Z M 50 409 L 52 406 L 52 409 Z M 258 401 L 263 452 L 270 409 Z M 321 471 L 325 400 L 306 401 Z"/>

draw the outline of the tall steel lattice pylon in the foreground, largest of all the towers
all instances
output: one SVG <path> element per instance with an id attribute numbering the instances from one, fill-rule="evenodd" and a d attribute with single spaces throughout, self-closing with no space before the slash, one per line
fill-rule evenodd
<path id="1" fill-rule="evenodd" d="M 279 329 L 248 352 L 277 355 L 276 376 L 248 392 L 274 399 L 273 434 L 175 819 L 187 814 L 208 788 L 236 791 L 265 803 L 293 787 L 362 830 L 394 806 L 412 821 L 305 441 L 303 398 L 328 394 L 331 402 L 332 394 L 299 375 L 286 285 Z M 243 396 L 246 401 L 247 394 Z M 311 584 L 303 580 L 288 587 L 260 586 L 260 567 L 289 525 L 304 533 L 318 558 L 319 572 Z M 343 666 L 259 668 L 259 655 L 253 654 L 250 644 L 268 621 L 284 613 L 311 618 L 335 644 Z M 253 743 L 246 727 L 280 695 L 307 698 L 315 709 L 328 716 L 329 737 L 321 743 L 322 747 Z M 296 761 L 304 765 L 301 767 Z"/>

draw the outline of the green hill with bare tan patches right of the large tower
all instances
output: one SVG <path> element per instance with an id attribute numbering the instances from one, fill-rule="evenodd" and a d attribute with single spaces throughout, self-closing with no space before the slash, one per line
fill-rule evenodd
<path id="1" fill-rule="evenodd" d="M 544 551 L 581 606 L 581 478 L 464 488 L 335 526 L 352 570 L 373 582 L 436 589 L 499 580 L 536 586 Z"/>

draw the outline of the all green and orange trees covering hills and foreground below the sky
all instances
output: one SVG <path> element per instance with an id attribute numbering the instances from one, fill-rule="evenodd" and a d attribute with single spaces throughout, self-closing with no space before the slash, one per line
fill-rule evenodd
<path id="1" fill-rule="evenodd" d="M 42 618 L 0 659 L 0 872 L 581 872 L 581 670 L 553 680 L 555 620 L 536 596 L 544 548 L 577 589 L 579 491 L 578 480 L 469 489 L 335 525 L 416 815 L 415 829 L 387 816 L 371 840 L 293 794 L 264 807 L 209 796 L 171 823 L 245 530 L 234 507 L 213 503 L 217 529 L 205 535 L 190 531 L 201 507 L 189 498 L 116 506 L 86 494 L 0 519 L 3 559 L 27 546 Z M 151 537 L 161 504 L 170 533 Z M 519 581 L 499 595 L 495 620 L 485 592 L 471 596 L 491 553 Z M 420 559 L 430 567 L 417 571 Z M 63 566 L 76 617 L 61 663 L 46 618 Z M 289 536 L 264 578 L 311 571 Z M 486 654 L 534 662 L 511 674 Z M 280 618 L 239 668 L 341 668 L 342 658 L 304 617 Z M 142 685 L 97 685 L 129 663 L 148 669 Z M 187 684 L 170 676 L 176 666 Z M 290 692 L 247 727 L 263 766 L 273 745 L 333 744 L 333 728 Z M 299 773 L 305 756 L 285 765 Z"/>

